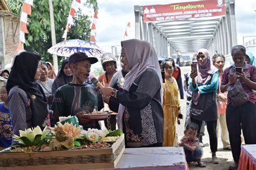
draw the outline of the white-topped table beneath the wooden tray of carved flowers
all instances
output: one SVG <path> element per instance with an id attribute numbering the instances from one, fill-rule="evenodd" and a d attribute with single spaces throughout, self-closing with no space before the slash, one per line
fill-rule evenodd
<path id="1" fill-rule="evenodd" d="M 57 153 L 53 152 L 53 153 Z M 44 152 L 44 154 L 48 154 Z M 79 158 L 79 156 L 77 156 Z M 11 159 L 10 159 L 11 161 Z M 43 160 L 42 160 L 43 161 Z M 83 161 L 83 160 L 81 160 Z M 86 161 L 86 160 L 84 160 Z M 15 167 L 0 167 L 2 170 L 12 169 L 55 169 L 55 170 L 82 170 L 82 169 L 97 169 L 95 166 L 86 164 L 55 164 L 55 165 L 31 165 L 31 166 L 15 166 Z M 104 168 L 101 168 L 104 169 Z M 105 170 L 122 169 L 122 170 L 188 170 L 188 165 L 185 158 L 183 147 L 144 147 L 144 148 L 125 148 L 125 151 L 120 158 L 118 164 L 114 168 L 105 168 Z"/>

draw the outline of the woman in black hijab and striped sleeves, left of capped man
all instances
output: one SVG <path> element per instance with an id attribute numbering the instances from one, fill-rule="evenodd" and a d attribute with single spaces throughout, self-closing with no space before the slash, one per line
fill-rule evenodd
<path id="1" fill-rule="evenodd" d="M 36 80 L 40 79 L 41 56 L 32 52 L 22 52 L 15 57 L 6 89 L 8 92 L 9 112 L 14 134 L 19 130 L 40 126 L 49 113 L 48 101 L 42 87 Z"/>

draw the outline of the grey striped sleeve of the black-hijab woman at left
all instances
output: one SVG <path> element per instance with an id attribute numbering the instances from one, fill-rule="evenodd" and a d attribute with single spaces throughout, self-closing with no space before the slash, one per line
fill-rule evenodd
<path id="1" fill-rule="evenodd" d="M 32 126 L 30 99 L 25 91 L 18 86 L 12 87 L 8 95 L 8 106 L 14 134 L 19 135 L 19 130 L 24 131 Z"/>

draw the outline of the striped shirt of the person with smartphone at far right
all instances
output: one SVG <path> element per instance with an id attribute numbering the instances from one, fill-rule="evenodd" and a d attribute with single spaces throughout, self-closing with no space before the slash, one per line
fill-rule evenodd
<path id="1" fill-rule="evenodd" d="M 223 78 L 221 80 L 221 85 L 226 85 L 228 83 L 228 76 L 229 76 L 229 73 L 230 73 L 230 67 L 227 67 L 225 70 L 224 70 L 224 73 L 223 73 Z M 250 79 L 251 81 L 253 82 L 256 82 L 256 69 L 253 65 L 249 65 L 249 64 L 245 64 L 244 65 L 244 71 L 245 73 L 245 76 Z M 246 93 L 249 94 L 249 101 L 251 101 L 251 103 L 255 104 L 255 101 L 256 101 L 256 95 L 255 95 L 255 91 L 253 91 L 251 89 L 251 87 L 249 87 L 243 80 L 240 79 L 240 83 L 243 87 L 243 89 L 245 90 Z M 230 104 L 231 103 L 231 98 L 230 98 L 230 95 L 227 94 L 227 104 Z"/>

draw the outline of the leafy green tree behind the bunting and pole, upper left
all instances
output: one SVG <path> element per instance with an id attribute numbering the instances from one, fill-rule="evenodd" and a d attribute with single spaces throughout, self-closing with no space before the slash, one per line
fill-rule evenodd
<path id="1" fill-rule="evenodd" d="M 12 12 L 21 15 L 23 0 L 6 0 L 6 2 Z M 56 42 L 61 42 L 72 1 L 58 0 L 53 1 L 52 3 L 55 19 Z M 93 10 L 98 9 L 97 0 L 87 0 L 84 5 Z M 52 62 L 52 56 L 47 52 L 52 46 L 49 1 L 33 1 L 32 13 L 31 16 L 29 16 L 29 20 L 29 34 L 26 34 L 26 44 L 24 49 L 26 51 L 39 53 L 42 55 L 43 60 Z M 79 10 L 75 16 L 74 23 L 75 25 L 72 25 L 70 28 L 68 38 L 89 39 L 88 36 L 90 36 L 89 32 L 91 31 L 90 18 Z M 61 60 L 62 57 L 58 57 L 58 61 L 60 62 Z"/>

